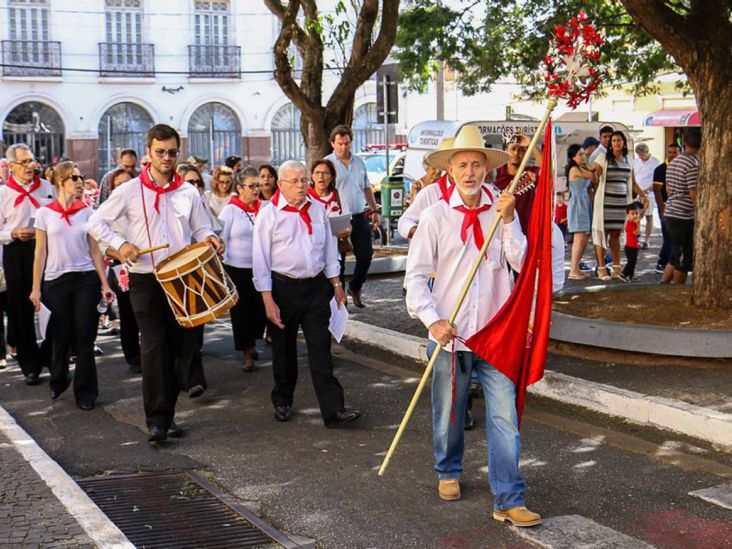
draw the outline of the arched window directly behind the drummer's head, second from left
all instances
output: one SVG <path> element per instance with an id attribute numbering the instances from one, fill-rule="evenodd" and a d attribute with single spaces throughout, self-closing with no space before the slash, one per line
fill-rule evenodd
<path id="1" fill-rule="evenodd" d="M 99 121 L 99 172 L 104 174 L 119 161 L 124 149 L 145 154 L 145 138 L 153 126 L 148 112 L 134 103 L 117 103 L 107 109 Z"/>

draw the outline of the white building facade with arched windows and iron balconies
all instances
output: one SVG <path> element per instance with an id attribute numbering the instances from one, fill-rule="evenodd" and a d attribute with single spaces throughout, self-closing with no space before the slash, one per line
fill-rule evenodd
<path id="1" fill-rule="evenodd" d="M 31 145 L 99 174 L 144 153 L 155 123 L 182 154 L 221 164 L 304 158 L 299 113 L 275 82 L 278 20 L 251 0 L 0 0 L 1 149 Z M 338 75 L 327 74 L 326 97 Z M 372 141 L 376 87 L 356 95 L 356 144 Z"/>

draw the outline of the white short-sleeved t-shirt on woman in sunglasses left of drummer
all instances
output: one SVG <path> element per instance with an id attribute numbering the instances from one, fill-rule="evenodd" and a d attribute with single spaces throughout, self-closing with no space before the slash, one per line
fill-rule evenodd
<path id="1" fill-rule="evenodd" d="M 46 207 L 38 209 L 35 227 L 46 231 L 47 239 L 45 280 L 69 272 L 94 270 L 87 240 L 87 223 L 92 213 L 91 208 L 76 212 L 70 216 L 69 226 L 60 213 Z"/>

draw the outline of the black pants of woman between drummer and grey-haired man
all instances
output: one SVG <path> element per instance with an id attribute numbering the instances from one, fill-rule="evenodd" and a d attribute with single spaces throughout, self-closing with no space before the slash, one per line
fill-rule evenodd
<path id="1" fill-rule="evenodd" d="M 224 265 L 224 269 L 239 293 L 239 301 L 229 310 L 234 348 L 237 351 L 246 351 L 254 347 L 254 342 L 262 339 L 264 334 L 264 302 L 262 295 L 254 288 L 251 269 L 230 265 Z"/>

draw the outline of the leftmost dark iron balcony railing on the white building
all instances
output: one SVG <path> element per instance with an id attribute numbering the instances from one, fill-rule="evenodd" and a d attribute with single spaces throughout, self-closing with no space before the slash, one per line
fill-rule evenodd
<path id="1" fill-rule="evenodd" d="M 61 42 L 3 40 L 3 76 L 61 76 Z"/>

